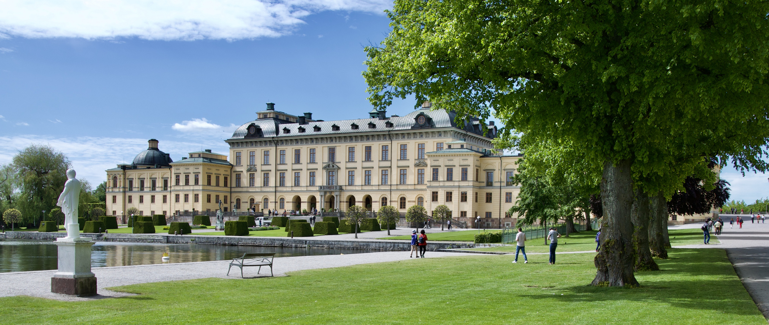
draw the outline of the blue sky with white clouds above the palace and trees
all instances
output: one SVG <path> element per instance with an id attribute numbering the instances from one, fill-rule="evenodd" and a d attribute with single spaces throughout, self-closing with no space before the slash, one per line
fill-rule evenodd
<path id="1" fill-rule="evenodd" d="M 28 144 L 65 152 L 92 184 L 157 138 L 178 160 L 265 103 L 325 120 L 371 110 L 362 47 L 389 31 L 386 0 L 11 1 L 0 11 L 0 164 Z M 398 101 L 388 114 L 407 114 Z M 725 169 L 732 197 L 764 174 Z"/>

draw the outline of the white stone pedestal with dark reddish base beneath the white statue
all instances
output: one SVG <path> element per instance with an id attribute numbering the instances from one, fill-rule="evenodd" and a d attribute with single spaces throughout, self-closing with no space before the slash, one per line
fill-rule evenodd
<path id="1" fill-rule="evenodd" d="M 78 296 L 96 294 L 96 276 L 91 272 L 91 247 L 88 237 L 58 238 L 58 271 L 51 278 L 51 292 Z"/>

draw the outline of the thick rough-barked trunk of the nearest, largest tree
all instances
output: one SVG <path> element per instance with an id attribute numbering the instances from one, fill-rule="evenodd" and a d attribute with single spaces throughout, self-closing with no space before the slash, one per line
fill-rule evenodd
<path id="1" fill-rule="evenodd" d="M 601 227 L 601 250 L 595 256 L 598 269 L 591 285 L 599 287 L 638 287 L 633 275 L 633 177 L 631 162 L 604 163 L 601 177 L 604 221 Z"/>

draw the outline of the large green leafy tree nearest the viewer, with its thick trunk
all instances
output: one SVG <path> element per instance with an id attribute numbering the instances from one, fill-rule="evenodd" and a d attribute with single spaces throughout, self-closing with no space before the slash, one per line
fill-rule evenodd
<path id="1" fill-rule="evenodd" d="M 667 177 L 705 157 L 766 169 L 767 12 L 769 2 L 397 0 L 364 75 L 378 107 L 414 95 L 459 119 L 494 114 L 532 141 L 569 141 L 601 169 L 592 284 L 634 287 L 634 185 L 671 193 L 681 183 Z"/>

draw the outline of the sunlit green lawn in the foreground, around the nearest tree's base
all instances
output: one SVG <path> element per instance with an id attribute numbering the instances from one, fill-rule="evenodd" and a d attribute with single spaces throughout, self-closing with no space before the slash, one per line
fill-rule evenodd
<path id="1" fill-rule="evenodd" d="M 0 313 L 6 324 L 766 324 L 724 250 L 670 253 L 634 289 L 587 286 L 593 254 L 478 255 L 136 284 L 112 290 L 138 296 L 82 302 L 2 297 Z"/>

